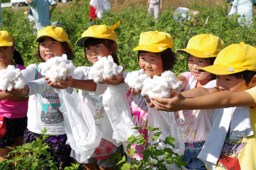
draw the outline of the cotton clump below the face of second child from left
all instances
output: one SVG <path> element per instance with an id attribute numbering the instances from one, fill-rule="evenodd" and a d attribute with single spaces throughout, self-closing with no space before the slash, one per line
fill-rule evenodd
<path id="1" fill-rule="evenodd" d="M 52 82 L 56 79 L 66 80 L 67 76 L 74 73 L 74 64 L 68 60 L 68 56 L 63 54 L 61 57 L 50 58 L 46 62 L 38 65 L 42 70 L 42 75 L 49 78 Z"/>

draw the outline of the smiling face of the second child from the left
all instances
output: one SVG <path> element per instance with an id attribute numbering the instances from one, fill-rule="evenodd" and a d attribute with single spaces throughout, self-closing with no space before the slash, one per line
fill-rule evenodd
<path id="1" fill-rule="evenodd" d="M 53 40 L 50 37 L 45 37 L 44 40 L 39 43 L 39 53 L 44 61 L 49 60 L 55 56 L 62 56 L 65 53 L 63 46 L 59 41 Z"/>

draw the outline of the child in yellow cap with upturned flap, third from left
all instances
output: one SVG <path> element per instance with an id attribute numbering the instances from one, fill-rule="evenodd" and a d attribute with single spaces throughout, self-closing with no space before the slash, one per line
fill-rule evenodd
<path id="1" fill-rule="evenodd" d="M 87 61 L 94 64 L 98 61 L 98 56 L 104 57 L 111 55 L 114 62 L 119 64 L 116 55 L 116 33 L 114 32 L 114 29 L 119 23 L 120 22 L 117 22 L 112 27 L 108 27 L 105 24 L 93 25 L 82 33 L 82 37 L 76 41 L 76 46 L 84 48 Z M 88 74 L 90 70 L 91 66 L 77 67 L 74 72 L 76 79 L 68 77 L 67 81 L 59 81 L 61 84 L 54 84 L 54 82 L 52 82 L 52 84 L 50 83 L 50 86 L 53 85 L 54 87 L 58 88 L 66 88 L 69 86 L 82 89 L 78 91 L 81 98 L 83 100 L 91 101 L 95 106 L 95 124 L 102 132 L 102 139 L 100 146 L 95 149 L 92 157 L 80 163 L 83 163 L 86 169 L 111 169 L 114 168 L 114 164 L 106 163 L 110 162 L 108 156 L 117 152 L 120 143 L 113 140 L 113 129 L 111 128 L 108 116 L 106 115 L 102 105 L 102 95 L 92 94 L 92 92 L 89 92 L 95 90 L 106 90 L 106 88 L 100 90 L 97 89 L 99 86 L 96 86 L 96 83 L 89 80 Z M 104 86 L 100 86 L 100 88 L 102 87 Z"/>

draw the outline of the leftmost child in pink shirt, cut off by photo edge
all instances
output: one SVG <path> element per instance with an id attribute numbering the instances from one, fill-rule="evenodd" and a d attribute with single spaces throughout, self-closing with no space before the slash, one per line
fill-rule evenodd
<path id="1" fill-rule="evenodd" d="M 25 69 L 10 33 L 0 31 L 0 70 L 7 69 L 8 65 L 14 65 L 20 70 Z M 10 152 L 7 147 L 22 145 L 23 134 L 27 128 L 28 98 L 14 97 L 0 90 L 0 100 L 0 160 L 3 160 Z"/>

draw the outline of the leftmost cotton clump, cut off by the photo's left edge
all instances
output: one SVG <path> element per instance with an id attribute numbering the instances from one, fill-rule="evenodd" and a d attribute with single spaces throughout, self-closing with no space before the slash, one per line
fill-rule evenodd
<path id="1" fill-rule="evenodd" d="M 20 69 L 8 65 L 7 69 L 0 70 L 0 90 L 11 91 L 12 88 L 23 89 L 27 81 L 23 78 Z"/>

